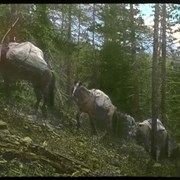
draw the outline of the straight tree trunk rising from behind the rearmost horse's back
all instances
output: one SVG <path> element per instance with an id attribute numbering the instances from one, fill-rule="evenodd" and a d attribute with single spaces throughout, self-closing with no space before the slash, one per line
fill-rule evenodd
<path id="1" fill-rule="evenodd" d="M 161 120 L 166 124 L 166 4 L 162 11 Z"/>

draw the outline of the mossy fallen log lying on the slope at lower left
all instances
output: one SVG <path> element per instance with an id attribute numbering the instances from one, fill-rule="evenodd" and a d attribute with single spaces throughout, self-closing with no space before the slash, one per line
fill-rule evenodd
<path id="1" fill-rule="evenodd" d="M 0 149 L 0 154 L 4 156 L 4 158 L 11 154 L 11 157 L 20 156 L 22 158 L 24 156 L 29 159 L 44 161 L 45 163 L 53 166 L 57 172 L 61 173 L 67 173 L 68 171 L 70 174 L 72 174 L 75 169 L 78 170 L 81 168 L 90 170 L 89 167 L 87 167 L 82 162 L 79 162 L 75 159 L 70 159 L 64 155 L 52 153 L 51 151 L 35 144 L 31 144 L 28 146 L 22 145 L 22 148 L 20 150 L 19 146 L 18 148 L 9 147 L 0 143 Z"/>

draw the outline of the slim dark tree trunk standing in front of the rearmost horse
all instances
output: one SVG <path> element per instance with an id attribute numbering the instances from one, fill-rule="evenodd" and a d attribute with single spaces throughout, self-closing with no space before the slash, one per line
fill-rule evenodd
<path id="1" fill-rule="evenodd" d="M 152 65 L 152 143 L 151 155 L 156 159 L 157 152 L 157 118 L 158 118 L 158 32 L 159 32 L 159 4 L 155 5 L 153 65 Z"/>

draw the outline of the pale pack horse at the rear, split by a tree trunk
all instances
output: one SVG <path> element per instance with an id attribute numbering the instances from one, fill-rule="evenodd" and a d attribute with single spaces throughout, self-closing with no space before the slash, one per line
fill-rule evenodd
<path id="1" fill-rule="evenodd" d="M 143 122 L 136 122 L 134 126 L 134 134 L 137 140 L 141 139 L 144 148 L 147 152 L 151 152 L 151 132 L 152 119 L 144 120 Z M 162 122 L 157 119 L 157 153 L 156 160 L 159 158 L 168 157 L 168 133 Z"/>

